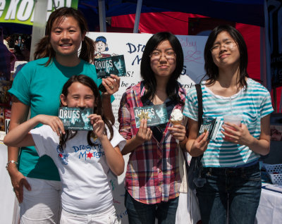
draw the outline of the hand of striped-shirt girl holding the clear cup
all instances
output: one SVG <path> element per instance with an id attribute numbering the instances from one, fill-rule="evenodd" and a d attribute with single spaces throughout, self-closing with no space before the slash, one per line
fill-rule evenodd
<path id="1" fill-rule="evenodd" d="M 225 124 L 226 125 L 222 125 L 224 131 L 221 130 L 221 133 L 224 135 L 224 140 L 242 145 L 248 145 L 250 143 L 253 137 L 250 135 L 246 125 L 241 124 L 239 127 L 238 125 L 228 122 Z"/>

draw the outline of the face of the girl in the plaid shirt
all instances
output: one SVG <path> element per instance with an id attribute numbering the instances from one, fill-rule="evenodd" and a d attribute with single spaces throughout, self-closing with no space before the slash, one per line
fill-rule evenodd
<path id="1" fill-rule="evenodd" d="M 154 54 L 159 54 L 160 58 L 154 58 Z M 164 40 L 152 51 L 151 54 L 151 68 L 154 72 L 156 79 L 158 77 L 166 78 L 171 77 L 171 74 L 176 69 L 176 56 L 173 48 L 168 40 Z"/>

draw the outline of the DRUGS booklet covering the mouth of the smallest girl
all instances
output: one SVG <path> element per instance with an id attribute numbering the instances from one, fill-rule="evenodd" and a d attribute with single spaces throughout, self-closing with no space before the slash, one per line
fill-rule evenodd
<path id="1" fill-rule="evenodd" d="M 93 108 L 60 107 L 59 118 L 66 130 L 93 130 L 90 114 Z"/>

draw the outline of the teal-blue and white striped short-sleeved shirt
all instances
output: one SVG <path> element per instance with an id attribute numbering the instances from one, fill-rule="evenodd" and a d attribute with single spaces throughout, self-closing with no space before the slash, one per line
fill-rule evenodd
<path id="1" fill-rule="evenodd" d="M 271 97 L 268 90 L 258 82 L 248 78 L 247 89 L 243 88 L 232 97 L 221 97 L 214 94 L 202 82 L 203 119 L 221 118 L 229 113 L 243 117 L 242 123 L 247 125 L 250 134 L 259 139 L 261 132 L 260 120 L 273 112 Z M 195 87 L 188 91 L 183 114 L 192 120 L 197 120 L 197 92 Z M 222 129 L 222 127 L 221 127 Z M 235 167 L 253 163 L 259 154 L 249 147 L 223 140 L 223 134 L 218 132 L 215 140 L 211 140 L 204 152 L 202 163 L 204 167 Z"/>

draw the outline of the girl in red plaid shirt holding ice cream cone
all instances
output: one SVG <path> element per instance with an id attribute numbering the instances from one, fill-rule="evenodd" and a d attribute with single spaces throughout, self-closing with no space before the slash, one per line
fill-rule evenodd
<path id="1" fill-rule="evenodd" d="M 142 82 L 123 94 L 118 111 L 119 131 L 127 139 L 122 154 L 130 153 L 125 175 L 125 207 L 129 223 L 175 223 L 180 187 L 178 141 L 185 149 L 185 127 L 165 123 L 136 127 L 134 108 L 164 104 L 168 118 L 183 109 L 185 89 L 177 82 L 183 69 L 183 51 L 170 32 L 153 35 L 142 61 Z"/>

